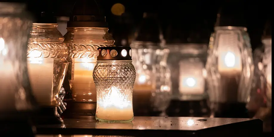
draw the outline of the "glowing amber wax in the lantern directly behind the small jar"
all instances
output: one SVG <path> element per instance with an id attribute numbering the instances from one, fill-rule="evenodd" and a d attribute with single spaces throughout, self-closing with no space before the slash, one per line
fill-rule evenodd
<path id="1" fill-rule="evenodd" d="M 74 62 L 72 67 L 72 93 L 76 102 L 96 102 L 93 68 L 96 62 Z"/>

